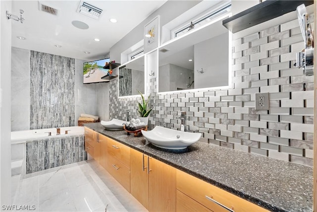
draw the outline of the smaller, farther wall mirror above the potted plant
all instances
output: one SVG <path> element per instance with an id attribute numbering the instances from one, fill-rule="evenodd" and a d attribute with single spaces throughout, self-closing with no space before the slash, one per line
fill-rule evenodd
<path id="1" fill-rule="evenodd" d="M 119 67 L 119 97 L 138 95 L 145 91 L 144 55 Z"/>

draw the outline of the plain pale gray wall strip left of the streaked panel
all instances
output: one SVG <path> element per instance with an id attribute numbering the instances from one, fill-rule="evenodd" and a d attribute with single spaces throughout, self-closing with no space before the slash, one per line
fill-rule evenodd
<path id="1" fill-rule="evenodd" d="M 30 129 L 30 51 L 11 50 L 11 131 Z"/>

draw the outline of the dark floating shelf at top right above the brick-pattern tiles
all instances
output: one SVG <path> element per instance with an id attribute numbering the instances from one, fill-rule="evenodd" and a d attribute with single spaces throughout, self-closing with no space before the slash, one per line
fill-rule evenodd
<path id="1" fill-rule="evenodd" d="M 295 11 L 296 7 L 314 3 L 314 0 L 266 0 L 222 21 L 232 33 L 239 32 L 270 19 Z"/>

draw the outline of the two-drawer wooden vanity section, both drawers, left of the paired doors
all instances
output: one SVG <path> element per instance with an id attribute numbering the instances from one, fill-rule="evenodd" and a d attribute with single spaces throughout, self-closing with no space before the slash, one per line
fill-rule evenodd
<path id="1" fill-rule="evenodd" d="M 107 138 L 106 170 L 130 192 L 130 147 Z"/>

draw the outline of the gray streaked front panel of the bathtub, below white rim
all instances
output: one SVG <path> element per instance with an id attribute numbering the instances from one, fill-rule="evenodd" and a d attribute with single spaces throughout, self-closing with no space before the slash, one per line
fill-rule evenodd
<path id="1" fill-rule="evenodd" d="M 84 136 L 27 141 L 26 174 L 87 160 Z"/>

